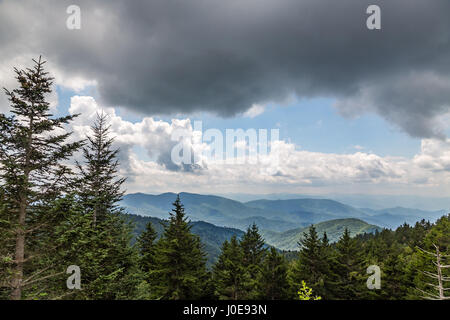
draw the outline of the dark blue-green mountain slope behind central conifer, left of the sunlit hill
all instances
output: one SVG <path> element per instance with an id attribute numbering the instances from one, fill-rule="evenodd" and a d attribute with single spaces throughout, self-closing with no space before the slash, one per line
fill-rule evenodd
<path id="1" fill-rule="evenodd" d="M 134 236 L 137 237 L 144 230 L 145 226 L 151 222 L 153 228 L 158 233 L 158 238 L 163 234 L 163 225 L 166 220 L 162 220 L 155 217 L 143 217 L 129 214 L 127 217 L 135 224 Z M 238 229 L 218 227 L 211 223 L 203 221 L 191 222 L 192 233 L 200 237 L 200 240 L 204 246 L 207 254 L 208 265 L 212 265 L 220 255 L 220 247 L 225 240 L 229 240 L 232 236 L 240 238 L 244 232 Z"/>

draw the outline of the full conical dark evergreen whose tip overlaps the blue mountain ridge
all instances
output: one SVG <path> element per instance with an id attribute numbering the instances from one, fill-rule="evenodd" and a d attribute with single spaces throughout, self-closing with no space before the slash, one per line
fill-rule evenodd
<path id="1" fill-rule="evenodd" d="M 173 203 L 168 225 L 156 246 L 153 286 L 156 298 L 198 299 L 207 281 L 200 239 L 191 233 L 180 197 Z"/>

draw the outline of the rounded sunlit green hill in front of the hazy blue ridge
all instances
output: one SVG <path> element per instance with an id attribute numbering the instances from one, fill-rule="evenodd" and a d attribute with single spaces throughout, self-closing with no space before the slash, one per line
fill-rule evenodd
<path id="1" fill-rule="evenodd" d="M 314 225 L 320 236 L 324 232 L 327 233 L 330 242 L 337 241 L 344 233 L 345 228 L 350 231 L 351 236 L 363 233 L 373 233 L 376 230 L 381 231 L 382 228 L 368 224 L 360 219 L 335 219 L 330 221 L 320 222 Z M 272 245 L 281 250 L 298 250 L 298 242 L 303 238 L 303 234 L 308 232 L 308 227 L 297 228 L 285 232 L 274 232 L 268 230 L 261 230 L 267 244 Z"/>

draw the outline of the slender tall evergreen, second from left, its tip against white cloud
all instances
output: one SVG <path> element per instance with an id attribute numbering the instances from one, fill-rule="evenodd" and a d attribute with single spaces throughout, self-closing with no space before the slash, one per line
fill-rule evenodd
<path id="1" fill-rule="evenodd" d="M 83 217 L 78 218 L 82 220 L 78 229 L 76 225 L 72 227 L 80 235 L 67 248 L 67 259 L 83 272 L 84 289 L 79 298 L 131 297 L 141 281 L 138 252 L 130 244 L 132 226 L 117 204 L 125 180 L 117 174 L 119 150 L 112 149 L 109 129 L 106 115 L 97 115 L 92 136 L 88 136 L 83 147 L 85 164 L 78 164 L 78 199 Z"/>

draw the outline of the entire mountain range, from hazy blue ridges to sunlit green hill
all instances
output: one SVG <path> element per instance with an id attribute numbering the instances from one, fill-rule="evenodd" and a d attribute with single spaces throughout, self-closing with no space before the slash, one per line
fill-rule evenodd
<path id="1" fill-rule="evenodd" d="M 330 242 L 335 242 L 345 228 L 355 236 L 382 228 L 393 229 L 405 222 L 413 224 L 421 219 L 434 221 L 446 213 L 445 210 L 425 211 L 403 207 L 381 210 L 355 208 L 335 200 L 318 198 L 240 202 L 214 195 L 184 192 L 179 195 L 191 220 L 191 230 L 204 245 L 209 265 L 216 261 L 225 240 L 234 235 L 241 237 L 253 223 L 258 225 L 267 245 L 280 250 L 298 250 L 298 241 L 311 224 L 315 225 L 320 236 L 326 232 Z M 144 230 L 148 222 L 152 222 L 160 236 L 176 197 L 176 193 L 125 195 L 121 206 L 135 223 L 135 236 Z"/>

